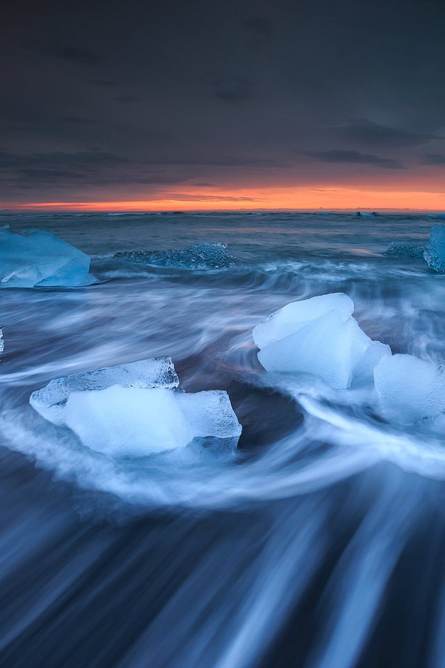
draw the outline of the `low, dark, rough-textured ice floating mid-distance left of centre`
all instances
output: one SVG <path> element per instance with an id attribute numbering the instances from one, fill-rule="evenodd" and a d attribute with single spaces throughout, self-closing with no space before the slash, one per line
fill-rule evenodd
<path id="1" fill-rule="evenodd" d="M 155 264 L 161 267 L 186 267 L 187 269 L 231 267 L 237 260 L 226 252 L 227 244 L 193 244 L 179 250 L 129 250 L 115 253 L 116 260 L 129 260 L 138 264 Z"/>

